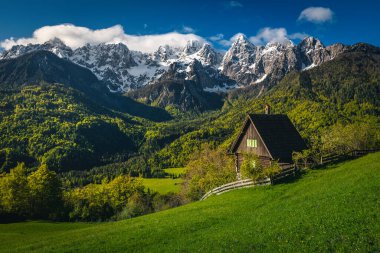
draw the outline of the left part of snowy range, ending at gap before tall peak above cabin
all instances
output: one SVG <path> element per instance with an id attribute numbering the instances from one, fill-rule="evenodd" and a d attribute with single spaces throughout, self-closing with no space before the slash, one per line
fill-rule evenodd
<path id="1" fill-rule="evenodd" d="M 181 76 L 184 79 L 191 80 L 193 73 L 190 71 L 194 62 L 201 62 L 202 67 L 210 68 L 217 66 L 222 58 L 209 44 L 202 45 L 199 41 L 189 41 L 183 48 L 160 46 L 154 53 L 146 54 L 130 51 L 121 43 L 87 44 L 73 50 L 59 39 L 54 39 L 44 44 L 14 46 L 5 51 L 0 59 L 15 58 L 37 50 L 51 51 L 61 58 L 90 69 L 114 92 L 138 89 L 158 80 L 163 73 L 173 68 L 178 73 L 183 73 Z M 214 73 L 213 75 L 218 76 Z"/>

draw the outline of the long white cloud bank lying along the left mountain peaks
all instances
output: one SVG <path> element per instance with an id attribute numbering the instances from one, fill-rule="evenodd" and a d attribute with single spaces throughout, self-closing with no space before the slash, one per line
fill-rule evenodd
<path id="1" fill-rule="evenodd" d="M 142 52 L 153 52 L 160 45 L 183 47 L 189 40 L 206 42 L 204 38 L 193 33 L 181 34 L 178 32 L 170 32 L 154 35 L 129 35 L 124 32 L 121 25 L 92 30 L 87 27 L 62 24 L 41 27 L 35 30 L 33 36 L 30 38 L 6 39 L 0 42 L 0 47 L 10 49 L 14 45 L 27 45 L 29 43 L 41 44 L 53 38 L 59 38 L 67 46 L 72 48 L 78 48 L 87 43 L 124 43 L 131 50 L 139 50 Z"/>

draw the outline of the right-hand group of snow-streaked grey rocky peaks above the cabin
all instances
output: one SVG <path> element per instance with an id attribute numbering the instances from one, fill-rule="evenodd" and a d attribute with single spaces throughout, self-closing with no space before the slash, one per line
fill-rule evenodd
<path id="1" fill-rule="evenodd" d="M 298 45 L 291 41 L 253 45 L 240 35 L 224 55 L 220 70 L 244 86 L 264 82 L 275 84 L 292 70 L 306 70 L 333 59 L 345 46 L 325 47 L 318 39 L 305 38 Z"/>

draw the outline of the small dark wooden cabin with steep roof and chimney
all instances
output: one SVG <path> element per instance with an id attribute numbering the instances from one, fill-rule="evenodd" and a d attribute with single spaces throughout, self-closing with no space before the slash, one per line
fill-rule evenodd
<path id="1" fill-rule="evenodd" d="M 305 141 L 285 114 L 249 114 L 229 152 L 235 155 L 236 173 L 240 179 L 240 166 L 245 153 L 256 154 L 264 166 L 273 160 L 280 165 L 293 163 L 292 154 L 306 149 Z"/>

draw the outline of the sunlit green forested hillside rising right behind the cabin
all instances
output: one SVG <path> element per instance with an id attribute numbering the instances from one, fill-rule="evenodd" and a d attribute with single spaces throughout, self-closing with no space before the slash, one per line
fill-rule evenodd
<path id="1" fill-rule="evenodd" d="M 227 149 L 239 133 L 246 114 L 263 113 L 265 104 L 272 107 L 274 114 L 287 114 L 301 136 L 316 150 L 322 148 L 321 135 L 335 124 L 366 122 L 379 128 L 379 70 L 380 50 L 359 43 L 318 67 L 287 74 L 263 96 L 239 89 L 229 94 L 215 119 L 203 124 L 188 122 L 187 126 L 194 125 L 194 130 L 163 147 L 152 160 L 158 161 L 155 167 L 181 167 L 202 143 Z M 165 135 L 165 131 L 157 131 L 156 136 Z"/>

